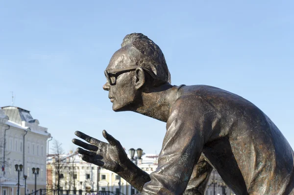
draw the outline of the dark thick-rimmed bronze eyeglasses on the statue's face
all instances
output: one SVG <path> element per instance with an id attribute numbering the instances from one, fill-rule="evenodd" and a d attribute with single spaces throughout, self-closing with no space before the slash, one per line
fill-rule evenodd
<path id="1" fill-rule="evenodd" d="M 156 79 L 156 76 L 153 72 L 151 72 L 150 70 L 148 70 L 147 68 L 145 67 L 142 67 L 142 66 L 130 66 L 130 67 L 127 67 L 127 68 L 121 68 L 121 69 L 114 69 L 114 70 L 105 70 L 104 71 L 104 74 L 105 74 L 105 77 L 106 77 L 106 80 L 107 82 L 110 84 L 110 85 L 115 85 L 116 84 L 116 80 L 118 78 L 118 76 L 120 76 L 121 74 L 123 73 L 126 73 L 126 72 L 129 72 L 129 71 L 132 71 L 132 70 L 136 70 L 136 68 L 142 68 L 143 70 L 145 70 L 153 79 Z"/>

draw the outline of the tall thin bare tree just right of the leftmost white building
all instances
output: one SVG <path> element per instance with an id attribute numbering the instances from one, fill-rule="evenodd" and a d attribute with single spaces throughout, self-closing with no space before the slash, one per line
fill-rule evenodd
<path id="1" fill-rule="evenodd" d="M 55 171 L 55 177 L 57 176 L 57 191 L 59 195 L 60 191 L 60 175 L 61 175 L 61 169 L 64 165 L 64 158 L 62 158 L 62 154 L 64 154 L 64 150 L 61 147 L 62 143 L 60 143 L 58 140 L 54 139 L 53 146 L 51 148 L 53 154 L 54 154 L 54 161 L 53 161 L 53 167 Z M 56 178 L 55 178 L 56 181 Z"/>

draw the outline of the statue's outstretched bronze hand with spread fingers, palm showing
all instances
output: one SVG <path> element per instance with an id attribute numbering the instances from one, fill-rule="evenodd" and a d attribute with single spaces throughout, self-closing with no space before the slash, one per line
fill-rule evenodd
<path id="1" fill-rule="evenodd" d="M 105 130 L 103 130 L 102 135 L 109 143 L 92 138 L 80 131 L 76 131 L 74 134 L 88 142 L 85 143 L 79 139 L 72 140 L 74 144 L 82 147 L 77 148 L 76 151 L 82 155 L 82 160 L 88 163 L 106 168 L 113 172 L 118 172 L 122 168 L 122 165 L 128 160 L 121 143 Z"/>

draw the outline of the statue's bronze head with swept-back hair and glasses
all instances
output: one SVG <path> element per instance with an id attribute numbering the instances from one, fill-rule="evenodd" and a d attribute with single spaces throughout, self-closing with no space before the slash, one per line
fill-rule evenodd
<path id="1" fill-rule="evenodd" d="M 171 75 L 161 49 L 147 36 L 132 33 L 124 37 L 122 48 L 111 57 L 105 70 L 108 97 L 114 111 L 138 106 L 143 91 L 171 83 Z"/>

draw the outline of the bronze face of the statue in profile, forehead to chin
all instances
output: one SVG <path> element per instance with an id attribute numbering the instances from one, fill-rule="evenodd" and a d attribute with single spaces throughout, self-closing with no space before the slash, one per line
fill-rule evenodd
<path id="1" fill-rule="evenodd" d="M 135 104 L 138 90 L 135 88 L 134 70 L 119 71 L 130 66 L 133 62 L 128 57 L 128 51 L 125 48 L 118 50 L 110 59 L 106 68 L 108 80 L 103 85 L 103 89 L 108 91 L 108 98 L 112 102 L 112 110 L 129 111 Z M 107 77 L 107 75 L 106 75 Z"/>

